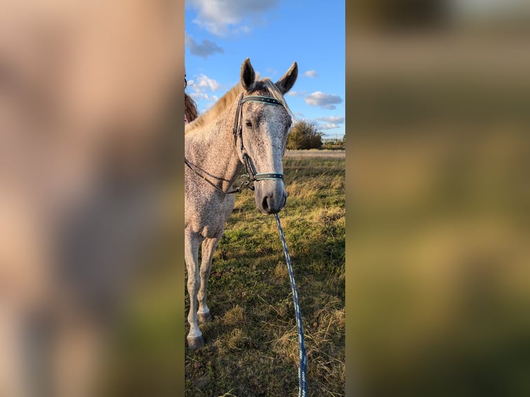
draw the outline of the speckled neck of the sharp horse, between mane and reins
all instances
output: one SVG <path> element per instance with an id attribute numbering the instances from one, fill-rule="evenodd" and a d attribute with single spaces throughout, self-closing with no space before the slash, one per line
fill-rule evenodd
<path id="1" fill-rule="evenodd" d="M 205 172 L 223 178 L 219 187 L 227 190 L 235 182 L 241 167 L 232 133 L 237 101 L 217 118 L 185 134 L 185 158 Z"/>

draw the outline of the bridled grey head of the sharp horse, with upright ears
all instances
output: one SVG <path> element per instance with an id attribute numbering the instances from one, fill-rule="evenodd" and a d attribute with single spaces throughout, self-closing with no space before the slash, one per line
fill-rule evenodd
<path id="1" fill-rule="evenodd" d="M 285 205 L 287 194 L 283 181 L 282 158 L 292 116 L 284 94 L 295 84 L 298 65 L 293 62 L 276 83 L 255 80 L 255 72 L 247 58 L 241 65 L 240 128 L 237 137 L 239 159 L 253 174 L 255 202 L 259 212 L 276 214 Z"/>

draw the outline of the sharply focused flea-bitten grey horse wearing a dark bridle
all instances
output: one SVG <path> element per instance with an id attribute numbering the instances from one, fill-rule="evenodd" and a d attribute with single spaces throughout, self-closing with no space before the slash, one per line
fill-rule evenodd
<path id="1" fill-rule="evenodd" d="M 246 58 L 239 83 L 185 128 L 184 241 L 190 295 L 186 340 L 190 349 L 204 345 L 199 321 L 211 320 L 206 304 L 208 277 L 214 250 L 234 209 L 234 193 L 244 187 L 254 190 L 257 210 L 263 214 L 276 214 L 286 203 L 282 158 L 293 116 L 284 94 L 297 77 L 298 65 L 293 62 L 276 83 L 269 78 L 257 80 Z M 232 184 L 243 169 L 247 180 L 234 190 Z"/>

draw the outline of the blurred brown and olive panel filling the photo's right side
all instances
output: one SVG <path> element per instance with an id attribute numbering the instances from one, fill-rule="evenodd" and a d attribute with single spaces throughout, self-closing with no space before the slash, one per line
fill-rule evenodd
<path id="1" fill-rule="evenodd" d="M 347 3 L 347 396 L 530 395 L 530 3 Z"/>

